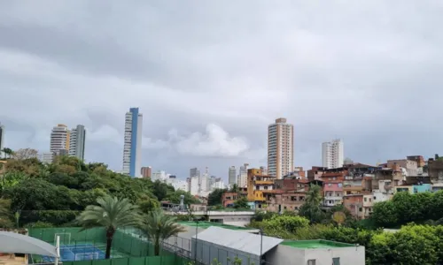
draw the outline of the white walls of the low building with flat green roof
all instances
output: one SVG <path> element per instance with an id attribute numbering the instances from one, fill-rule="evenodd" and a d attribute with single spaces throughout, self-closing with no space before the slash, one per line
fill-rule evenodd
<path id="1" fill-rule="evenodd" d="M 341 265 L 365 265 L 364 246 L 303 249 L 279 245 L 265 256 L 269 264 L 291 265 L 307 265 L 308 260 L 315 260 L 315 265 L 330 265 L 332 258 L 340 258 Z"/>

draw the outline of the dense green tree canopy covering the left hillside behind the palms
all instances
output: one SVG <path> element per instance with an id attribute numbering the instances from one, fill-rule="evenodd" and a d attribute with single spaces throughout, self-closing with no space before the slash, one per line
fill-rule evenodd
<path id="1" fill-rule="evenodd" d="M 147 178 L 115 173 L 104 163 L 83 163 L 73 156 L 56 156 L 53 163 L 43 164 L 35 158 L 33 149 L 21 149 L 7 157 L 0 178 L 0 198 L 10 201 L 11 216 L 21 213 L 21 225 L 73 225 L 80 211 L 97 204 L 97 198 L 105 195 L 126 198 L 145 212 L 159 208 L 161 200 L 179 203 L 181 195 L 185 204 L 198 202 L 190 193 L 175 191 L 173 186 L 160 181 L 152 183 Z"/>

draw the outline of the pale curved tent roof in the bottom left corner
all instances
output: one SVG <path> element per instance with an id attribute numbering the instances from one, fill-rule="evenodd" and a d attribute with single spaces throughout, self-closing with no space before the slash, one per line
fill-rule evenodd
<path id="1" fill-rule="evenodd" d="M 57 257 L 55 246 L 18 233 L 0 231 L 0 253 L 40 254 Z"/>

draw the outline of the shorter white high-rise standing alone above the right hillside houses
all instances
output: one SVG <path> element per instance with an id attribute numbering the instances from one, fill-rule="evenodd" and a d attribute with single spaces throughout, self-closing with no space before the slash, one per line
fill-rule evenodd
<path id="1" fill-rule="evenodd" d="M 328 169 L 337 169 L 343 166 L 345 153 L 343 141 L 340 139 L 323 142 L 322 166 Z"/>

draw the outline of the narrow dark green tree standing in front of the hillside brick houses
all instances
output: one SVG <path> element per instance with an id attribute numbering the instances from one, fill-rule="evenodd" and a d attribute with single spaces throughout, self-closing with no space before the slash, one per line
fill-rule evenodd
<path id="1" fill-rule="evenodd" d="M 320 186 L 311 185 L 305 203 L 299 208 L 299 215 L 307 217 L 311 223 L 320 223 L 324 218 L 321 208 L 323 196 Z"/>

